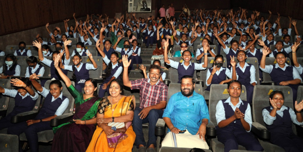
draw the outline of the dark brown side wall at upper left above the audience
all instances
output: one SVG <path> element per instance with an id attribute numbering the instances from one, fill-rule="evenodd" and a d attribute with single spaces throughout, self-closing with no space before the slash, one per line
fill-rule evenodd
<path id="1" fill-rule="evenodd" d="M 49 30 L 59 26 L 65 32 L 63 20 L 71 19 L 69 25 L 75 25 L 73 13 L 76 17 L 86 14 L 100 14 L 102 1 L 90 0 L 2 0 L 0 1 L 0 49 L 7 45 L 18 45 L 23 40 L 31 45 L 33 38 L 39 33 L 49 38 L 45 24 L 49 23 Z M 11 34 L 12 33 L 12 34 Z"/>

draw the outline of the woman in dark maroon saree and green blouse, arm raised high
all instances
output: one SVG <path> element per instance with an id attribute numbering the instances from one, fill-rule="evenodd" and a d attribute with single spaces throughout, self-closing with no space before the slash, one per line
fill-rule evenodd
<path id="1" fill-rule="evenodd" d="M 84 94 L 72 85 L 71 80 L 59 68 L 60 55 L 56 57 L 55 68 L 75 98 L 76 111 L 73 121 L 54 127 L 52 151 L 85 151 L 96 129 L 96 113 L 101 98 L 97 97 L 97 83 L 87 79 Z"/>

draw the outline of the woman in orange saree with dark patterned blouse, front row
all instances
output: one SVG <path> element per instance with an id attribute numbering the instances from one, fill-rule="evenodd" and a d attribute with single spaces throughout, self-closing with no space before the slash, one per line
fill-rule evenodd
<path id="1" fill-rule="evenodd" d="M 131 126 L 135 98 L 133 95 L 122 95 L 123 83 L 119 79 L 114 79 L 111 82 L 109 92 L 110 96 L 104 97 L 98 106 L 98 126 L 86 152 L 132 151 L 136 137 Z M 124 122 L 127 128 L 126 132 L 115 132 L 114 128 L 107 125 L 110 122 Z"/>

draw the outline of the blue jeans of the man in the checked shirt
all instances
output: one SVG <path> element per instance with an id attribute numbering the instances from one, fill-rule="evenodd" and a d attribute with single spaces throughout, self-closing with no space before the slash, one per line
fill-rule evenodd
<path id="1" fill-rule="evenodd" d="M 141 108 L 136 108 L 134 111 L 134 118 L 133 118 L 133 130 L 136 133 L 135 143 L 136 146 L 139 147 L 140 144 L 146 146 L 143 131 L 142 131 L 142 124 L 149 123 L 148 125 L 148 141 L 147 146 L 150 144 L 154 144 L 156 146 L 157 136 L 155 136 L 155 128 L 159 118 L 162 118 L 163 110 L 152 109 L 149 111 L 148 115 L 144 119 L 140 119 L 139 113 L 142 111 Z"/>

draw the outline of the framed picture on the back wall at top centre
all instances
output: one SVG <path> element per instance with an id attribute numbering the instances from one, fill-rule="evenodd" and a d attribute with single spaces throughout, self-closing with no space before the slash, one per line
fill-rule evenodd
<path id="1" fill-rule="evenodd" d="M 128 0 L 128 12 L 151 12 L 152 0 Z"/>

